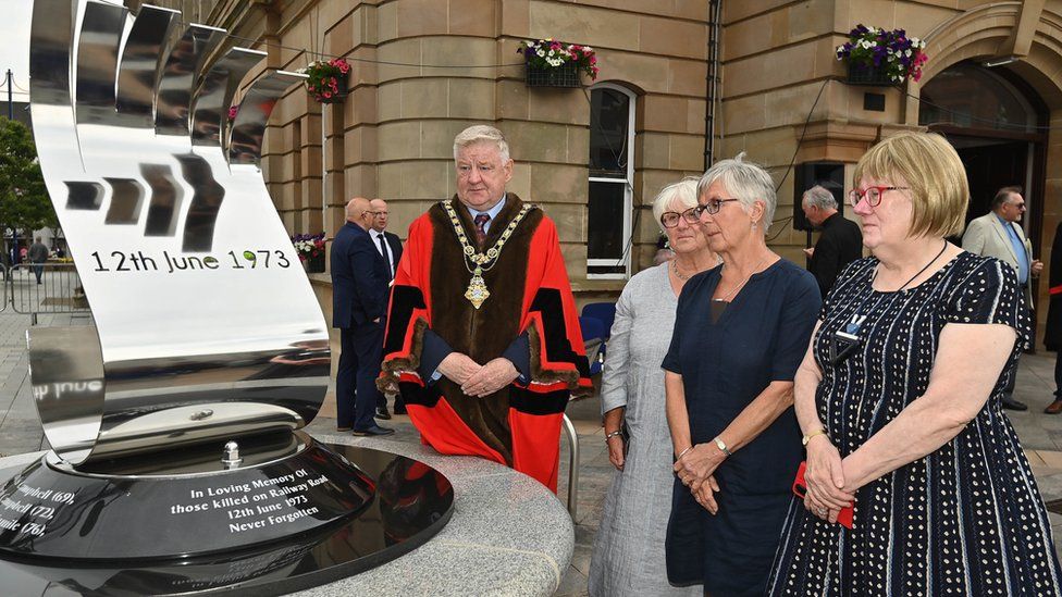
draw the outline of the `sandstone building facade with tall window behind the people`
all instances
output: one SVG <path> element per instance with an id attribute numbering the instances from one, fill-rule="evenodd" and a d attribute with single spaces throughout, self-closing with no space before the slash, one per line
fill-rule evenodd
<path id="1" fill-rule="evenodd" d="M 771 245 L 803 263 L 814 238 L 787 220 L 794 197 L 824 178 L 850 188 L 852 165 L 876 140 L 928 128 L 970 167 L 970 217 L 998 186 L 1026 187 L 1025 225 L 1050 260 L 1062 206 L 1062 0 L 162 3 L 229 28 L 231 45 L 267 51 L 269 67 L 322 55 L 354 66 L 345 102 L 318 104 L 293 88 L 274 112 L 264 169 L 293 234 L 331 236 L 344 202 L 361 195 L 388 200 L 391 227 L 405 236 L 454 192 L 454 135 L 491 123 L 511 145 L 510 189 L 557 222 L 585 301 L 615 296 L 651 263 L 653 198 L 703 172 L 709 156 L 745 151 L 768 167 L 779 185 Z M 835 48 L 859 23 L 927 40 L 922 80 L 848 84 Z M 527 87 L 517 46 L 546 37 L 592 46 L 597 80 Z M 617 114 L 629 115 L 626 127 Z M 328 309 L 328 277 L 316 282 Z"/>

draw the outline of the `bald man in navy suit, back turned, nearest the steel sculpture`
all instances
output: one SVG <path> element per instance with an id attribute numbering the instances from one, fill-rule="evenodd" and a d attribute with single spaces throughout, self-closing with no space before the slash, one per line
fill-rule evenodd
<path id="1" fill-rule="evenodd" d="M 339 328 L 341 343 L 336 422 L 339 431 L 353 428 L 355 435 L 388 435 L 395 431 L 378 425 L 373 411 L 382 398 L 375 382 L 391 276 L 369 237 L 373 217 L 369 200 L 355 197 L 346 215 L 347 223 L 332 241 L 332 326 Z"/>

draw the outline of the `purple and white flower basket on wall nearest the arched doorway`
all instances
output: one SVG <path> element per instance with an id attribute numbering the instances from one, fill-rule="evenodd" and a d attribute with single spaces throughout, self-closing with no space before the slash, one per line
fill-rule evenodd
<path id="1" fill-rule="evenodd" d="M 848 83 L 852 85 L 902 85 L 907 78 L 922 78 L 928 58 L 926 42 L 907 37 L 903 29 L 887 32 L 856 25 L 849 40 L 837 47 L 837 60 L 848 62 Z"/>

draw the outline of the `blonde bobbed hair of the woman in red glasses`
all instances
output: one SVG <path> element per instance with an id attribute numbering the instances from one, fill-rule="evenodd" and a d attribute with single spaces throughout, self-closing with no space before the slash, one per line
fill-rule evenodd
<path id="1" fill-rule="evenodd" d="M 965 227 L 966 170 L 951 144 L 936 133 L 897 133 L 872 147 L 855 164 L 854 186 L 863 177 L 911 188 L 912 237 L 954 236 Z"/>

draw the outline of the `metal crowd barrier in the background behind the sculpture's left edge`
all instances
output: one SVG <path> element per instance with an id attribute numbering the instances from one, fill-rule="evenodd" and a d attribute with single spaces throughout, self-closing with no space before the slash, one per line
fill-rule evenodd
<path id="1" fill-rule="evenodd" d="M 8 299 L 16 313 L 89 313 L 82 279 L 73 263 L 20 263 L 5 272 Z M 0 309 L 2 311 L 2 309 Z"/>

